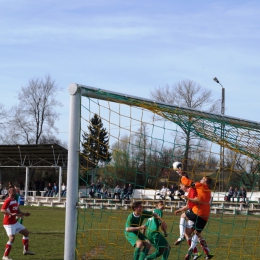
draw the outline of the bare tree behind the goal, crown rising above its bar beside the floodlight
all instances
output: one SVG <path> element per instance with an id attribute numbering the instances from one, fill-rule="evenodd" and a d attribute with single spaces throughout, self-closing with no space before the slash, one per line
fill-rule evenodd
<path id="1" fill-rule="evenodd" d="M 203 109 L 209 112 L 220 111 L 220 102 L 219 100 L 212 99 L 211 90 L 204 89 L 196 82 L 188 79 L 180 81 L 171 87 L 166 85 L 165 87 L 155 88 L 155 90 L 150 92 L 150 95 L 157 101 L 173 104 L 175 106 Z M 195 118 L 189 116 L 185 125 L 179 125 L 184 132 L 182 138 L 185 142 L 185 151 L 183 156 L 184 170 L 187 170 L 188 167 L 192 140 L 197 138 L 191 132 L 192 124 L 195 121 Z"/>

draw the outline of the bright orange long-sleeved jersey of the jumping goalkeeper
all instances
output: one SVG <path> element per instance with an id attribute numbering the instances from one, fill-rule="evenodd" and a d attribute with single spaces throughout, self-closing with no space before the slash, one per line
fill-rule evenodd
<path id="1" fill-rule="evenodd" d="M 183 176 L 181 178 L 181 183 L 185 186 L 191 186 L 193 181 Z M 197 190 L 199 203 L 194 203 L 192 211 L 201 218 L 208 220 L 210 214 L 211 190 L 207 184 L 200 182 L 195 182 L 194 188 Z"/>

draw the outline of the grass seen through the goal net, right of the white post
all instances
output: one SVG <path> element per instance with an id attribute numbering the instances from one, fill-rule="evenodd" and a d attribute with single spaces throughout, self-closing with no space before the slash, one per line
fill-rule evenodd
<path id="1" fill-rule="evenodd" d="M 130 211 L 81 210 L 79 214 L 79 259 L 132 259 L 133 248 L 123 230 Z M 179 217 L 165 213 L 168 241 L 172 247 L 169 259 L 183 259 L 188 245 L 174 246 L 179 236 Z M 203 236 L 214 259 L 260 259 L 260 218 L 241 215 L 211 215 Z M 198 246 L 200 251 L 201 248 Z M 203 256 L 204 257 L 204 256 Z M 160 258 L 158 258 L 160 259 Z"/>

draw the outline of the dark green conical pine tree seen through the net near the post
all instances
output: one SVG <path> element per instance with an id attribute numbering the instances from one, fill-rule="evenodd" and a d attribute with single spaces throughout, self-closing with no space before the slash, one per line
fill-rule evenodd
<path id="1" fill-rule="evenodd" d="M 99 162 L 109 163 L 112 154 L 109 152 L 108 132 L 97 114 L 91 118 L 88 130 L 82 135 L 82 154 L 87 159 L 87 167 L 95 168 Z"/>

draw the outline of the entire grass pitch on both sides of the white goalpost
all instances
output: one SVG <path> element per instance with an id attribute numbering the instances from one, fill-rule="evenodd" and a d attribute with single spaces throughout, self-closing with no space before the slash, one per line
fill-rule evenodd
<path id="1" fill-rule="evenodd" d="M 22 211 L 32 214 L 24 219 L 24 225 L 31 232 L 30 249 L 35 251 L 36 255 L 22 255 L 22 236 L 18 234 L 10 257 L 14 260 L 63 259 L 65 209 L 24 206 Z M 80 210 L 77 234 L 78 259 L 132 259 L 133 248 L 123 234 L 129 213 L 130 211 L 124 210 Z M 169 259 L 183 259 L 188 248 L 186 242 L 174 246 L 179 234 L 179 217 L 173 213 L 165 213 L 164 219 L 168 225 L 168 241 L 172 246 Z M 3 252 L 8 238 L 2 225 L 0 233 Z M 259 217 L 211 215 L 203 233 L 212 253 L 215 254 L 213 259 L 260 259 Z M 200 248 L 199 250 L 201 251 Z"/>

